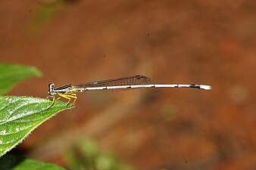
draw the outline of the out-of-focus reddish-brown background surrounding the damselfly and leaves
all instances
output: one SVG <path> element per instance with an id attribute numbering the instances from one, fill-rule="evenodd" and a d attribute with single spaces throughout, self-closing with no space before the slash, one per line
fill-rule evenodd
<path id="1" fill-rule="evenodd" d="M 67 169 L 255 169 L 254 0 L 2 1 L 0 62 L 36 66 L 8 95 L 145 75 L 197 89 L 89 91 L 13 152 Z"/>

